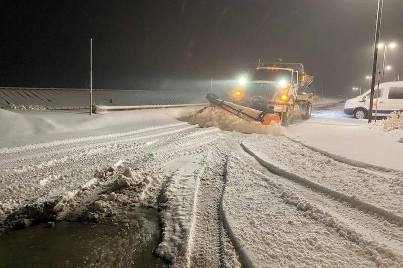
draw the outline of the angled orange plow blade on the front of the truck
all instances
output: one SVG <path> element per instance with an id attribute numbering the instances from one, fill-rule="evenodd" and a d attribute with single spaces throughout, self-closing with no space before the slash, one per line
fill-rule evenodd
<path id="1" fill-rule="evenodd" d="M 224 109 L 225 111 L 249 122 L 259 122 L 262 125 L 270 125 L 272 121 L 277 123 L 280 122 L 280 117 L 278 115 L 220 100 L 217 95 L 213 93 L 208 93 L 206 99 L 210 102 L 210 105 Z"/>

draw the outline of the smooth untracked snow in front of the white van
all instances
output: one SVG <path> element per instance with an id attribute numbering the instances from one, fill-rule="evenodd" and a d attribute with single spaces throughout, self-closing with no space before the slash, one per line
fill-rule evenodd
<path id="1" fill-rule="evenodd" d="M 370 127 L 368 119 L 345 115 L 343 106 L 314 110 L 311 119 L 295 122 L 286 135 L 341 158 L 402 170 L 403 131 L 384 132 L 381 126 Z"/>

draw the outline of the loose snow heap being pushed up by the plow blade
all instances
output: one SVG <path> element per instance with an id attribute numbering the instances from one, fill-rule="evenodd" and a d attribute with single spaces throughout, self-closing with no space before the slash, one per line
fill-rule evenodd
<path id="1" fill-rule="evenodd" d="M 236 115 L 217 107 L 209 106 L 189 118 L 189 123 L 199 127 L 217 126 L 222 130 L 237 131 L 241 133 L 284 135 L 284 128 L 272 122 L 270 125 L 262 125 L 257 122 L 248 122 Z"/>

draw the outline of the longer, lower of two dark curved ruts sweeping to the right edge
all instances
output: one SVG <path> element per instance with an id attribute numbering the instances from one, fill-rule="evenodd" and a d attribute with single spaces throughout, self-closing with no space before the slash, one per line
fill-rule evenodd
<path id="1" fill-rule="evenodd" d="M 287 178 L 290 178 L 293 181 L 296 181 L 298 183 L 302 183 L 312 189 L 321 191 L 325 194 L 330 195 L 333 198 L 337 198 L 343 201 L 346 201 L 350 204 L 352 204 L 353 206 L 357 206 L 361 209 L 364 210 L 370 210 L 372 212 L 375 212 L 381 216 L 390 218 L 392 220 L 398 221 L 400 224 L 403 224 L 403 217 L 400 215 L 396 215 L 394 213 L 391 213 L 390 211 L 387 211 L 383 208 L 380 208 L 378 206 L 375 206 L 373 204 L 367 203 L 365 201 L 359 200 L 357 199 L 357 197 L 355 196 L 347 196 L 343 193 L 334 191 L 330 188 L 327 188 L 325 186 L 319 185 L 317 183 L 314 183 L 312 181 L 309 181 L 307 178 L 301 177 L 295 173 L 291 173 L 289 171 L 286 171 L 285 169 L 282 169 L 279 166 L 276 166 L 272 163 L 267 162 L 266 160 L 262 159 L 261 157 L 259 157 L 256 153 L 254 153 L 252 150 L 250 150 L 247 146 L 245 146 L 242 142 L 240 143 L 241 147 L 250 155 L 252 155 L 262 166 L 266 167 L 268 170 L 270 170 L 271 172 L 280 175 L 280 176 L 284 176 Z"/>

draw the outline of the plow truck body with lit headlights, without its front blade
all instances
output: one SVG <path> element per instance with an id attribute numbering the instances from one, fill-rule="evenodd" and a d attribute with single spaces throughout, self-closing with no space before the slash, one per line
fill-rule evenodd
<path id="1" fill-rule="evenodd" d="M 263 63 L 249 70 L 232 93 L 235 104 L 278 114 L 288 125 L 295 113 L 305 109 L 309 118 L 312 95 L 303 92 L 313 81 L 301 63 Z M 307 81 L 308 77 L 308 81 Z"/>

